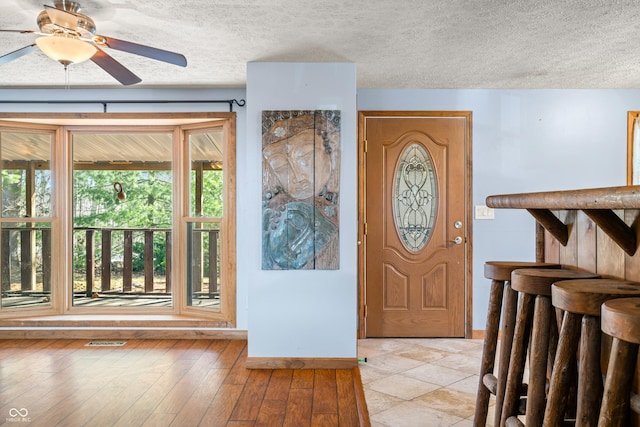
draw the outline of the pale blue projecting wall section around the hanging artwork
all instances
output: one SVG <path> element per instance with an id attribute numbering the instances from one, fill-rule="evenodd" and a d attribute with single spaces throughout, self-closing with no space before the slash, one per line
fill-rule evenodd
<path id="1" fill-rule="evenodd" d="M 250 357 L 356 357 L 357 136 L 354 64 L 249 63 L 238 159 L 238 284 L 249 289 Z M 263 110 L 340 110 L 340 269 L 261 270 Z"/>

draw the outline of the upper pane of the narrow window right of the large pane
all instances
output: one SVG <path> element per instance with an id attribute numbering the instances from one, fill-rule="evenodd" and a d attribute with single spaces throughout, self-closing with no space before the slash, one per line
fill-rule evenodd
<path id="1" fill-rule="evenodd" d="M 223 133 L 212 130 L 189 134 L 192 217 L 219 218 L 223 214 Z"/>

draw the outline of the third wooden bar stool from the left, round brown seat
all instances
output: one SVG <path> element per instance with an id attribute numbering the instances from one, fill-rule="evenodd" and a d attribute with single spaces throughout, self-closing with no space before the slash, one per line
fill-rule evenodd
<path id="1" fill-rule="evenodd" d="M 640 297 L 640 283 L 614 279 L 555 282 L 551 301 L 564 311 L 549 385 L 544 425 L 561 425 L 569 403 L 577 404 L 576 426 L 594 426 L 602 400 L 600 307 L 606 301 Z M 582 324 L 582 327 L 580 326 Z M 569 402 L 572 366 L 579 353 L 577 402 Z"/>

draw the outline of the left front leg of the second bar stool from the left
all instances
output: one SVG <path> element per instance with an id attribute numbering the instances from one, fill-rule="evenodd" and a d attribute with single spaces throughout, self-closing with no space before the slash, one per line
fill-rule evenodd
<path id="1" fill-rule="evenodd" d="M 507 418 L 517 415 L 518 403 L 521 394 L 522 376 L 527 357 L 531 324 L 533 319 L 533 304 L 535 297 L 531 294 L 520 294 L 520 310 L 516 320 L 516 329 L 513 336 L 513 351 L 509 360 L 509 374 L 507 375 L 507 387 L 502 405 L 502 415 L 498 425 L 505 425 Z"/>

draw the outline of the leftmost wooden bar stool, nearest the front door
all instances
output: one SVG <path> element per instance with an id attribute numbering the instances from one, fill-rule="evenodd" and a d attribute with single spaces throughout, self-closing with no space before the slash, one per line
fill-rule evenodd
<path id="1" fill-rule="evenodd" d="M 480 380 L 476 395 L 476 410 L 473 425 L 484 427 L 487 422 L 490 395 L 496 396 L 496 423 L 500 421 L 500 409 L 504 398 L 507 382 L 507 368 L 511 353 L 511 341 L 516 318 L 517 293 L 511 289 L 511 272 L 521 268 L 560 268 L 560 264 L 526 261 L 487 261 L 484 264 L 484 277 L 491 279 L 489 293 L 489 307 L 487 310 L 487 325 L 485 328 L 484 345 L 482 347 L 482 362 L 480 366 Z M 500 338 L 500 365 L 497 375 L 494 374 L 498 330 L 502 315 L 502 335 Z"/>

